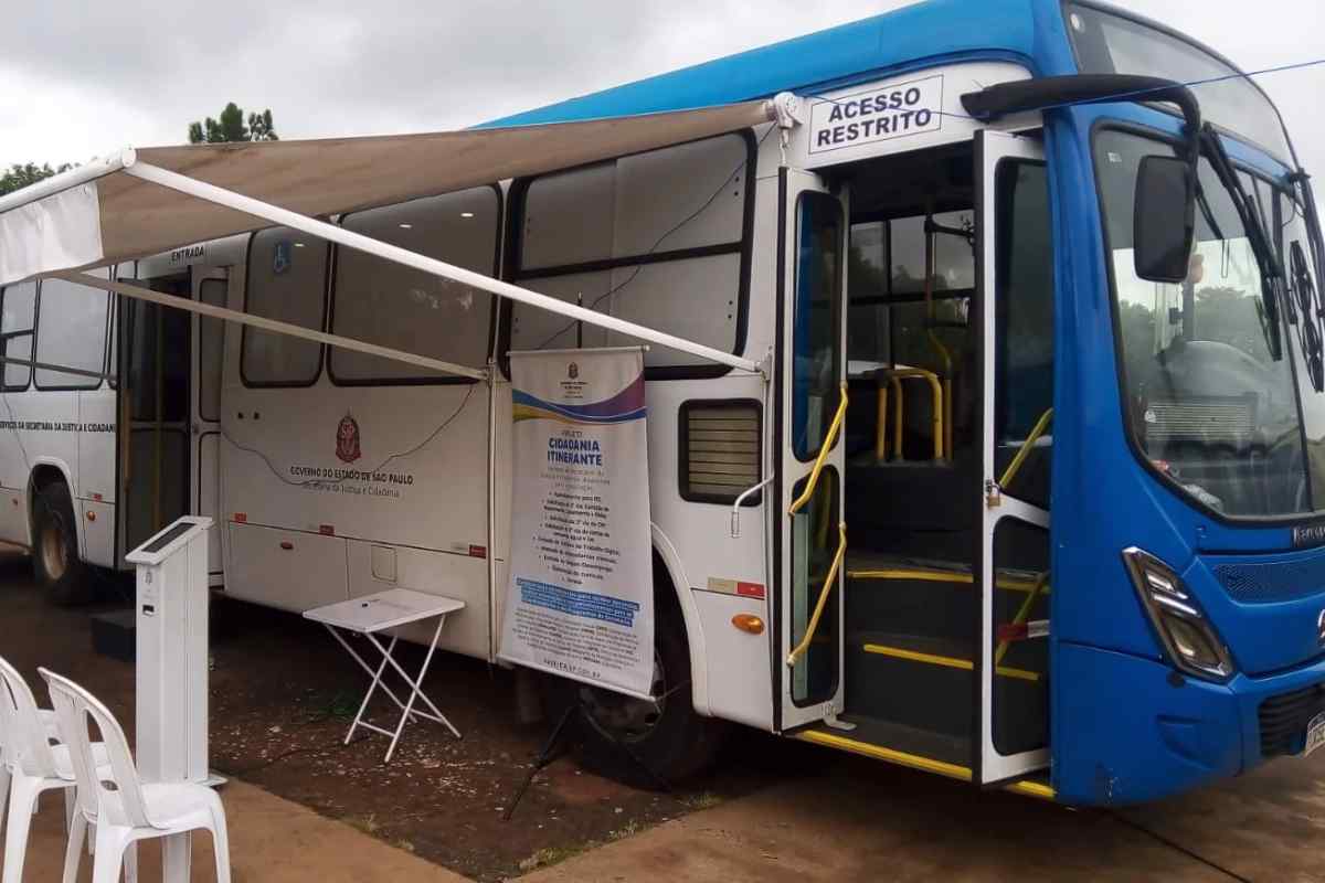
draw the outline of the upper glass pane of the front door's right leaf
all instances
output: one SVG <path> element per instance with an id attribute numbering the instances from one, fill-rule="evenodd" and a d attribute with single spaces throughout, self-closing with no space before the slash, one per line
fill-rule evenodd
<path id="1" fill-rule="evenodd" d="M 995 173 L 998 323 L 994 381 L 995 471 L 1012 461 L 1053 406 L 1053 242 L 1043 163 L 1004 160 Z M 1014 477 L 1014 496 L 1048 508 L 1052 426 Z"/>

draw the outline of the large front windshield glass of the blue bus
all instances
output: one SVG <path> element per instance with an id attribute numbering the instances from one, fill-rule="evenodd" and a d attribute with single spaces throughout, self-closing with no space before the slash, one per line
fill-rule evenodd
<path id="1" fill-rule="evenodd" d="M 1102 130 L 1094 152 L 1112 253 L 1124 410 L 1141 454 L 1204 508 L 1226 516 L 1313 511 L 1325 495 L 1313 494 L 1317 467 L 1304 451 L 1308 436 L 1321 437 L 1321 395 L 1297 376 L 1305 373 L 1298 311 L 1280 303 L 1272 318 L 1265 310 L 1260 270 L 1228 191 L 1202 159 L 1187 279 L 1147 282 L 1137 277 L 1132 248 L 1137 169 L 1143 156 L 1173 155 L 1174 148 Z M 1281 197 L 1259 179 L 1242 181 L 1264 226 L 1291 233 Z M 1283 250 L 1284 236 L 1271 236 Z M 1304 405 L 1308 424 L 1317 424 L 1308 433 Z"/>

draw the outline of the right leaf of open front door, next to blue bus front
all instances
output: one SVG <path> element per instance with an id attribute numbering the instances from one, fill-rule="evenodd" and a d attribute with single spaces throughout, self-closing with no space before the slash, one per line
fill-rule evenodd
<path id="1" fill-rule="evenodd" d="M 1049 764 L 1053 262 L 1040 142 L 983 130 L 975 172 L 983 466 L 973 488 L 982 512 L 973 761 L 977 781 L 991 785 Z"/>

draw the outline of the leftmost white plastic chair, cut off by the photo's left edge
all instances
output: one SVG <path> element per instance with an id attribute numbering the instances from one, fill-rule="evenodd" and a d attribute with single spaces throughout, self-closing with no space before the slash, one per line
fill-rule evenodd
<path id="1" fill-rule="evenodd" d="M 21 883 L 28 854 L 28 831 L 37 800 L 49 790 L 65 792 L 65 823 L 74 821 L 74 768 L 69 749 L 60 744 L 54 712 L 37 707 L 37 700 L 19 670 L 0 658 L 0 741 L 4 744 L 4 781 L 8 785 L 9 819 L 5 829 L 3 883 Z M 54 744 L 53 744 L 54 743 Z M 105 749 L 97 747 L 105 764 Z M 3 818 L 3 810 L 0 810 Z M 82 847 L 82 837 L 78 847 Z M 130 863 L 130 879 L 136 863 Z"/>

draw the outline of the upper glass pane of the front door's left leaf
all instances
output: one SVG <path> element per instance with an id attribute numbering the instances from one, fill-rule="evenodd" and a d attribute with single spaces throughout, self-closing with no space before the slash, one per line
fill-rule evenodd
<path id="1" fill-rule="evenodd" d="M 795 359 L 791 437 L 796 457 L 814 459 L 837 406 L 841 349 L 841 203 L 827 193 L 800 196 L 796 218 Z"/>

